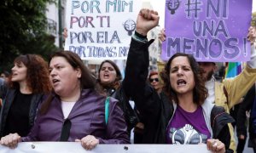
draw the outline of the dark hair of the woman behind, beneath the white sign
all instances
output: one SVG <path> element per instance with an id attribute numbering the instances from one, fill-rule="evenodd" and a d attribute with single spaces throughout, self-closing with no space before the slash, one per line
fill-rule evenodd
<path id="1" fill-rule="evenodd" d="M 114 82 L 111 82 L 110 84 L 103 84 L 102 81 L 101 81 L 100 72 L 101 72 L 101 69 L 102 69 L 102 65 L 104 63 L 109 63 L 110 65 L 113 66 L 114 71 L 116 71 L 116 78 L 115 78 Z M 100 68 L 98 70 L 98 78 L 97 78 L 97 81 L 100 83 L 100 85 L 102 87 L 107 86 L 108 88 L 119 88 L 121 80 L 122 80 L 122 74 L 119 70 L 118 65 L 116 65 L 112 60 L 107 59 L 107 60 L 102 61 L 101 65 L 100 65 Z"/>

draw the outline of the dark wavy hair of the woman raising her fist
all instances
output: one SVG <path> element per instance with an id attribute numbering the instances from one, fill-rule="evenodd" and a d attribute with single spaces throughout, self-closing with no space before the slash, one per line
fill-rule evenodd
<path id="1" fill-rule="evenodd" d="M 189 60 L 189 65 L 191 66 L 195 78 L 195 88 L 193 89 L 193 101 L 195 102 L 196 105 L 202 105 L 205 99 L 207 99 L 208 91 L 207 88 L 205 87 L 205 82 L 202 80 L 201 68 L 199 67 L 198 63 L 196 62 L 195 58 L 192 55 L 177 53 L 174 54 L 168 60 L 168 62 L 165 65 L 165 69 L 160 73 L 160 77 L 164 81 L 163 91 L 171 100 L 174 100 L 176 103 L 178 103 L 177 94 L 171 87 L 171 80 L 169 77 L 172 60 L 177 58 L 178 56 L 187 57 L 187 59 Z"/>

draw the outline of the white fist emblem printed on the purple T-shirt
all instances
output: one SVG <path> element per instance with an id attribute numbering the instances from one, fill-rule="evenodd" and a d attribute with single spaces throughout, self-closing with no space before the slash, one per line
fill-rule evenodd
<path id="1" fill-rule="evenodd" d="M 172 144 L 207 143 L 207 135 L 198 133 L 190 124 L 180 128 L 172 127 L 169 131 L 169 138 L 172 139 Z"/>

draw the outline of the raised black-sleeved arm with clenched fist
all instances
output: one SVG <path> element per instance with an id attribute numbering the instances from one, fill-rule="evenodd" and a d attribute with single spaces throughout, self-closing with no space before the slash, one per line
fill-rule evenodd
<path id="1" fill-rule="evenodd" d="M 147 33 L 149 30 L 157 26 L 159 16 L 157 12 L 149 9 L 142 9 L 137 16 L 137 29 L 136 33 L 131 38 L 131 46 L 126 62 L 125 79 L 123 86 L 125 94 L 131 97 L 140 113 L 150 114 L 155 110 L 157 105 L 152 98 L 154 89 L 148 87 L 148 42 Z M 145 112 L 144 112 L 145 111 Z"/>

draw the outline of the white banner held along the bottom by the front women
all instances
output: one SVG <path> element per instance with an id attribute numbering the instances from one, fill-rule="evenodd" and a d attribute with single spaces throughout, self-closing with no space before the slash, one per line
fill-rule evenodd
<path id="1" fill-rule="evenodd" d="M 0 145 L 1 153 L 210 153 L 207 144 L 98 144 L 93 150 L 84 150 L 80 143 L 75 142 L 26 142 L 20 143 L 13 150 Z"/>

